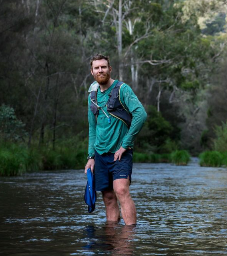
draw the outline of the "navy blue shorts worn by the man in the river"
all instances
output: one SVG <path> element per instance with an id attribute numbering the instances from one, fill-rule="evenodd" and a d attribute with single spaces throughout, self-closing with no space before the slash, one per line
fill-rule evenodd
<path id="1" fill-rule="evenodd" d="M 113 161 L 114 153 L 98 154 L 95 152 L 94 178 L 96 191 L 113 190 L 115 179 L 128 179 L 131 184 L 133 169 L 133 150 L 126 150 L 121 160 Z"/>

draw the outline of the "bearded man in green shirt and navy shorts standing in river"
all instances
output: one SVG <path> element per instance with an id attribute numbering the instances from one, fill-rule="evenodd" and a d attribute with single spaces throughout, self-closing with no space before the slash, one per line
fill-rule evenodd
<path id="1" fill-rule="evenodd" d="M 88 168 L 94 171 L 95 189 L 102 191 L 107 221 L 126 225 L 137 221 L 135 204 L 129 193 L 133 167 L 133 141 L 147 114 L 129 85 L 110 77 L 108 56 L 97 54 L 90 60 L 95 82 L 88 96 Z"/>

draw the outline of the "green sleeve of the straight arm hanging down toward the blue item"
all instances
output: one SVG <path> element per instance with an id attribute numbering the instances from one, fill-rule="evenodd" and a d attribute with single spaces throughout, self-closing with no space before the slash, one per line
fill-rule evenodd
<path id="1" fill-rule="evenodd" d="M 94 156 L 94 142 L 96 139 L 96 117 L 90 109 L 90 95 L 88 96 L 88 123 L 89 123 L 89 138 L 88 138 L 88 156 Z"/>

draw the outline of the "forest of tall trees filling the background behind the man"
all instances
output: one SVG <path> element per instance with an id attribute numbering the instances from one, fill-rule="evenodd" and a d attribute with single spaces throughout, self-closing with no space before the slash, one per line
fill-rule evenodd
<path id="1" fill-rule="evenodd" d="M 226 1 L 2 0 L 0 7 L 2 141 L 54 148 L 84 140 L 89 60 L 102 53 L 112 78 L 129 84 L 147 110 L 137 151 L 213 148 L 215 129 L 227 121 Z"/>

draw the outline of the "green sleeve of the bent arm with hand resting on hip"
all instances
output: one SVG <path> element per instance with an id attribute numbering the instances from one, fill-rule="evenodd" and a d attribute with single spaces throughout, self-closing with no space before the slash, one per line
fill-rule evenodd
<path id="1" fill-rule="evenodd" d="M 133 142 L 147 119 L 147 113 L 131 87 L 129 85 L 123 85 L 122 87 L 120 99 L 122 99 L 122 103 L 133 116 L 129 131 L 122 143 L 122 147 L 128 149 L 129 147 L 133 147 Z"/>

